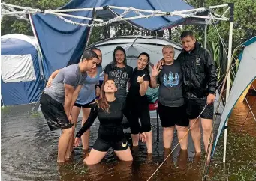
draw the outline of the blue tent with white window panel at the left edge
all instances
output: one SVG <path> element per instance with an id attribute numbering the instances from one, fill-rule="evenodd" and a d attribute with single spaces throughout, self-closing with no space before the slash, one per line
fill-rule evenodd
<path id="1" fill-rule="evenodd" d="M 23 34 L 2 36 L 1 52 L 2 104 L 38 102 L 44 76 L 36 40 Z"/>

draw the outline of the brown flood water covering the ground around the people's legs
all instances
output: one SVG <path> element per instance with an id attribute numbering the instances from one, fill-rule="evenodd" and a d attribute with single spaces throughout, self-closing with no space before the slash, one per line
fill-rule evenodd
<path id="1" fill-rule="evenodd" d="M 255 99 L 256 96 L 248 96 L 254 115 Z M 150 156 L 146 154 L 146 145 L 140 144 L 137 150 L 132 150 L 134 162 L 120 162 L 110 150 L 100 164 L 88 167 L 83 164 L 85 155 L 82 147 L 77 147 L 71 161 L 58 165 L 56 158 L 60 131 L 50 132 L 41 112 L 29 116 L 32 108 L 33 105 L 23 105 L 2 109 L 2 180 L 148 180 L 169 154 L 163 149 L 160 126 L 159 142 L 156 141 L 155 128 L 152 129 L 154 142 Z M 221 137 L 207 180 L 256 180 L 256 121 L 248 111 L 246 102 L 234 108 L 229 120 L 226 165 L 222 163 Z M 155 119 L 152 119 L 152 124 L 156 126 Z M 95 121 L 91 127 L 90 147 L 97 134 L 98 121 Z M 173 147 L 176 144 L 175 134 Z M 191 138 L 188 151 L 179 150 L 179 146 L 176 147 L 151 180 L 201 180 L 204 152 L 201 157 L 194 156 Z"/>

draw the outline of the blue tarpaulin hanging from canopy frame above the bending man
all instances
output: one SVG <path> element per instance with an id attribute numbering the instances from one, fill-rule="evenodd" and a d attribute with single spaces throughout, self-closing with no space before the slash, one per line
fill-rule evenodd
<path id="1" fill-rule="evenodd" d="M 93 6 L 94 1 L 87 5 Z M 69 3 L 61 9 L 81 7 L 80 4 Z M 92 16 L 92 11 L 72 12 L 70 14 Z M 47 79 L 53 71 L 66 67 L 68 64 L 75 64 L 80 60 L 86 46 L 88 27 L 69 24 L 50 14 L 37 13 L 31 17 L 35 36 L 38 38 L 41 52 L 44 55 L 44 76 Z M 89 20 L 80 20 L 80 22 L 89 23 Z"/>

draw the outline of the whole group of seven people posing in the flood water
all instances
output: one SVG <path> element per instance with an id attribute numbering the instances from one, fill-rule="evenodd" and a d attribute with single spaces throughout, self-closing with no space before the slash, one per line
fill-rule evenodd
<path id="1" fill-rule="evenodd" d="M 183 49 L 178 58 L 174 61 L 173 46 L 164 46 L 164 58 L 151 71 L 149 54 L 140 53 L 133 70 L 127 64 L 125 49 L 117 46 L 113 61 L 104 68 L 102 84 L 99 81 L 102 53 L 97 48 L 85 50 L 80 63 L 53 72 L 40 103 L 50 130 L 62 130 L 57 162 L 70 159 L 73 147 L 80 144 L 80 139 L 83 150 L 89 149 L 89 128 L 97 117 L 100 121 L 98 138 L 84 160 L 86 164 L 101 162 L 110 147 L 120 160 L 133 160 L 123 132 L 124 115 L 130 125 L 132 147 L 137 147 L 141 140 L 146 142 L 147 153 L 151 154 L 152 130 L 146 91 L 158 86 L 164 148 L 170 150 L 176 126 L 180 147 L 187 150 L 190 125 L 195 152 L 200 153 L 200 121 L 197 119 L 200 117 L 203 143 L 210 153 L 211 147 L 207 147 L 217 88 L 215 65 L 209 52 L 197 43 L 193 32 L 183 31 L 181 41 Z M 74 136 L 81 108 L 82 127 Z"/>

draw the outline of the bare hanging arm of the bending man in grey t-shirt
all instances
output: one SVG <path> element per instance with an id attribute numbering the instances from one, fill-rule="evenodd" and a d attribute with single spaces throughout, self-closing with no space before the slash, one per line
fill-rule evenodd
<path id="1" fill-rule="evenodd" d="M 64 111 L 67 117 L 69 117 L 71 114 L 71 102 L 72 102 L 72 96 L 74 93 L 74 87 L 71 85 L 64 84 L 64 88 L 65 88 Z"/>

